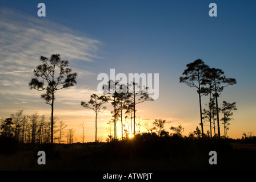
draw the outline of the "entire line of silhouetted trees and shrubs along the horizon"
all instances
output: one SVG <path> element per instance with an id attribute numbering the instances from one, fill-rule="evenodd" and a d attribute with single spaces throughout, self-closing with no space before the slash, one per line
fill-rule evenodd
<path id="1" fill-rule="evenodd" d="M 41 56 L 40 60 L 42 64 L 38 65 L 36 69 L 34 69 L 34 77 L 31 78 L 29 87 L 30 89 L 45 92 L 44 94 L 41 94 L 41 98 L 46 104 L 51 106 L 50 122 L 45 122 L 45 117 L 37 114 L 25 117 L 22 115 L 22 110 L 20 110 L 11 118 L 7 118 L 2 121 L 1 132 L 7 136 L 12 135 L 15 139 L 22 140 L 23 142 L 37 141 L 39 143 L 50 142 L 53 144 L 54 132 L 56 132 L 54 131 L 54 128 L 56 127 L 54 117 L 55 93 L 58 90 L 67 89 L 77 84 L 76 78 L 78 75 L 77 73 L 72 73 L 71 68 L 68 67 L 69 62 L 61 60 L 61 57 L 58 54 L 52 55 L 50 59 Z M 200 59 L 195 60 L 193 63 L 187 64 L 186 67 L 187 69 L 185 69 L 185 71 L 182 73 L 183 76 L 179 78 L 179 81 L 181 83 L 185 83 L 189 87 L 194 87 L 197 89 L 200 110 L 199 125 L 201 125 L 201 130 L 197 128 L 196 133 L 201 132 L 202 138 L 205 137 L 203 127 L 207 126 L 209 123 L 210 137 L 212 137 L 214 134 L 214 136 L 217 135 L 217 137 L 220 138 L 221 133 L 219 122 L 222 121 L 224 125 L 224 135 L 226 137 L 227 130 L 229 129 L 230 125 L 229 121 L 231 121 L 231 117 L 233 115 L 232 111 L 237 110 L 237 108 L 235 106 L 235 102 L 230 104 L 226 101 L 223 101 L 222 108 L 219 108 L 218 98 L 226 86 L 236 84 L 235 79 L 227 78 L 221 69 L 210 68 Z M 120 91 L 123 90 L 124 87 L 126 87 L 128 92 Z M 113 119 L 111 119 L 111 121 L 108 123 L 110 125 L 110 133 L 111 125 L 114 125 L 114 137 L 110 134 L 109 138 L 114 140 L 117 139 L 118 121 L 121 122 L 121 139 L 124 137 L 124 131 L 126 135 L 129 133 L 129 130 L 134 136 L 138 134 L 138 131 L 135 130 L 135 126 L 139 128 L 141 127 L 141 123 L 135 122 L 137 111 L 136 106 L 145 101 L 153 101 L 150 99 L 149 94 L 147 94 L 147 88 L 141 88 L 141 86 L 136 82 L 119 84 L 119 82 L 109 80 L 108 84 L 102 86 L 102 90 L 102 96 L 92 94 L 89 101 L 81 101 L 82 107 L 91 109 L 95 112 L 95 142 L 97 142 L 97 116 L 106 109 L 106 106 L 104 105 L 107 102 L 111 102 L 111 105 L 113 106 L 113 111 L 111 111 L 111 114 L 113 114 Z M 209 96 L 207 109 L 203 110 L 202 96 Z M 220 119 L 219 112 L 221 111 L 223 113 L 223 118 Z M 125 117 L 123 117 L 124 115 Z M 125 126 L 123 118 L 130 119 L 130 128 L 123 128 L 123 126 Z M 163 121 L 165 120 L 155 120 L 153 122 L 154 127 L 151 128 L 150 131 L 152 132 L 155 130 L 158 135 L 161 135 L 161 132 L 162 134 L 165 133 L 166 131 L 161 127 L 161 125 L 163 126 L 163 123 L 161 123 Z M 29 125 L 26 123 L 29 123 Z M 158 129 L 161 130 L 159 131 Z M 181 133 L 183 130 L 181 126 L 170 129 L 175 132 L 179 131 L 178 133 Z M 217 129 L 217 131 L 215 129 Z M 59 143 L 61 143 L 62 128 L 60 128 L 59 131 Z M 70 136 L 72 133 L 74 133 L 74 131 L 70 131 Z M 67 140 L 71 142 L 72 137 L 67 137 Z"/>

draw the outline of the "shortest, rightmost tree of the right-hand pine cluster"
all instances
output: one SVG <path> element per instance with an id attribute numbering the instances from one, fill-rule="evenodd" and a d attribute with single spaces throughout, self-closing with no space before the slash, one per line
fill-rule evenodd
<path id="1" fill-rule="evenodd" d="M 226 138 L 226 135 L 227 135 L 227 130 L 229 129 L 229 126 L 230 123 L 229 121 L 231 121 L 231 117 L 233 115 L 232 111 L 233 110 L 237 110 L 237 107 L 235 106 L 235 102 L 233 103 L 229 103 L 229 102 L 226 102 L 226 101 L 223 101 L 223 104 L 222 104 L 222 113 L 223 113 L 223 118 L 221 119 L 221 121 L 223 121 L 223 124 L 224 124 L 224 137 Z"/>

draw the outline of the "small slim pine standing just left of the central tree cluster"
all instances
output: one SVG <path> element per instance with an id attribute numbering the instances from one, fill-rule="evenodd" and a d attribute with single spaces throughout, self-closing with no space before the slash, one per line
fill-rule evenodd
<path id="1" fill-rule="evenodd" d="M 86 109 L 92 109 L 95 112 L 95 143 L 97 143 L 97 115 L 103 112 L 106 107 L 103 107 L 103 104 L 109 101 L 109 97 L 106 96 L 97 96 L 97 94 L 92 94 L 91 99 L 88 103 L 81 102 L 81 106 Z"/>

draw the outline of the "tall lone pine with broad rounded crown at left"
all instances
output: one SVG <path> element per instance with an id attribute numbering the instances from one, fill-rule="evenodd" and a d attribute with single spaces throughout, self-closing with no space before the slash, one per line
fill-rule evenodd
<path id="1" fill-rule="evenodd" d="M 61 60 L 61 56 L 58 54 L 51 55 L 50 59 L 41 56 L 40 61 L 42 61 L 42 64 L 34 69 L 35 77 L 31 78 L 29 86 L 30 89 L 46 91 L 41 97 L 46 101 L 46 104 L 51 106 L 51 144 L 53 144 L 54 94 L 57 90 L 70 88 L 77 84 L 77 81 L 75 81 L 77 73 L 71 73 L 71 69 L 68 68 L 69 61 Z"/>

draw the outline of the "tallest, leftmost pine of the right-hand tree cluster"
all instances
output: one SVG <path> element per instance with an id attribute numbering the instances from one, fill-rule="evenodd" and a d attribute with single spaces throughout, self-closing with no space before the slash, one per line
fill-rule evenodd
<path id="1" fill-rule="evenodd" d="M 189 87 L 197 88 L 197 93 L 199 96 L 199 109 L 200 109 L 200 119 L 201 119 L 201 129 L 203 137 L 203 119 L 202 119 L 202 104 L 201 97 L 205 94 L 201 91 L 201 82 L 205 76 L 207 68 L 209 68 L 201 59 L 195 60 L 193 63 L 186 65 L 187 69 L 182 73 L 184 77 L 179 77 L 179 82 L 185 83 Z"/>

